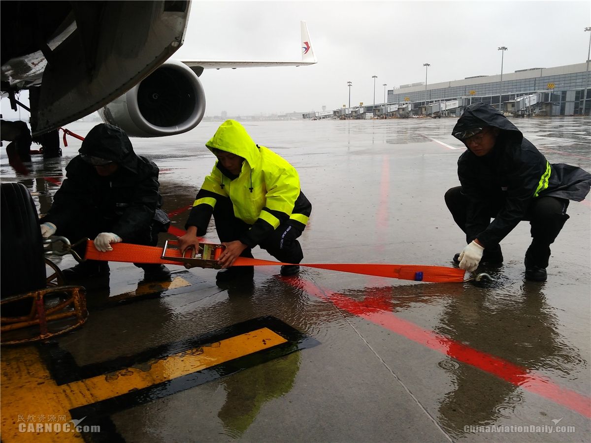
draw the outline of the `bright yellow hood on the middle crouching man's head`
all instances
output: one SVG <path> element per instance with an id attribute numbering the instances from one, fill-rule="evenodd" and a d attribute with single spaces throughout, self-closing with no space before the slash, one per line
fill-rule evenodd
<path id="1" fill-rule="evenodd" d="M 255 159 L 260 155 L 256 143 L 248 135 L 244 126 L 236 120 L 226 120 L 213 137 L 206 143 L 207 148 L 220 149 L 246 159 L 251 168 L 256 164 Z M 212 151 L 213 152 L 213 151 Z"/>

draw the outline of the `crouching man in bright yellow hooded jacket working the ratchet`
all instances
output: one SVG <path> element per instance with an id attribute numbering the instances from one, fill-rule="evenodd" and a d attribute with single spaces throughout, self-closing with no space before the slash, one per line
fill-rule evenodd
<path id="1" fill-rule="evenodd" d="M 303 259 L 301 235 L 311 204 L 300 191 L 296 169 L 265 146 L 252 141 L 243 126 L 226 120 L 206 144 L 217 157 L 213 171 L 197 193 L 181 249 L 194 247 L 206 233 L 213 214 L 217 236 L 225 245 L 217 281 L 252 278 L 252 266 L 234 266 L 238 257 L 252 258 L 259 245 L 284 263 Z M 296 275 L 300 266 L 283 265 L 281 275 Z"/>

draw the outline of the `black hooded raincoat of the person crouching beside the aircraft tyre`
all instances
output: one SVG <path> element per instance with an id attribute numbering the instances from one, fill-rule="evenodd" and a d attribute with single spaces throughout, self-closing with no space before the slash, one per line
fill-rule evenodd
<path id="1" fill-rule="evenodd" d="M 80 229 L 73 224 L 96 226 L 117 234 L 124 242 L 146 237 L 152 224 L 158 225 L 156 232 L 168 229 L 170 220 L 160 209 L 158 167 L 135 154 L 125 132 L 103 123 L 96 125 L 79 152 L 67 165 L 66 180 L 41 223 L 55 224 L 58 235 L 85 230 L 84 226 Z M 85 161 L 85 156 L 116 162 L 119 168 L 112 175 L 101 177 Z"/>

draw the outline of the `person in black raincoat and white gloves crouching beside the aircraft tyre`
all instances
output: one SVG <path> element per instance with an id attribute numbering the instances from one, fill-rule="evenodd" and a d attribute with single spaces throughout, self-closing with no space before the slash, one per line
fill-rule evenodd
<path id="1" fill-rule="evenodd" d="M 168 230 L 170 220 L 160 209 L 159 170 L 154 162 L 135 154 L 125 132 L 104 123 L 90 130 L 79 152 L 67 165 L 66 179 L 41 219 L 43 237 L 57 234 L 72 243 L 88 237 L 101 252 L 118 242 L 155 246 L 158 233 Z M 170 278 L 164 265 L 134 264 L 144 269 L 145 281 Z M 69 280 L 105 276 L 109 263 L 86 260 L 63 273 Z"/>

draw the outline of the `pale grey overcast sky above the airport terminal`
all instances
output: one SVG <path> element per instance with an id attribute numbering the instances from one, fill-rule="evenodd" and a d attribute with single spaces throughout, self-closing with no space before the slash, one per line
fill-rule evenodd
<path id="1" fill-rule="evenodd" d="M 318 63 L 206 70 L 206 115 L 332 110 L 400 84 L 584 63 L 586 1 L 193 1 L 180 60 L 301 60 L 305 20 Z M 2 100 L 2 111 L 8 109 Z"/>

